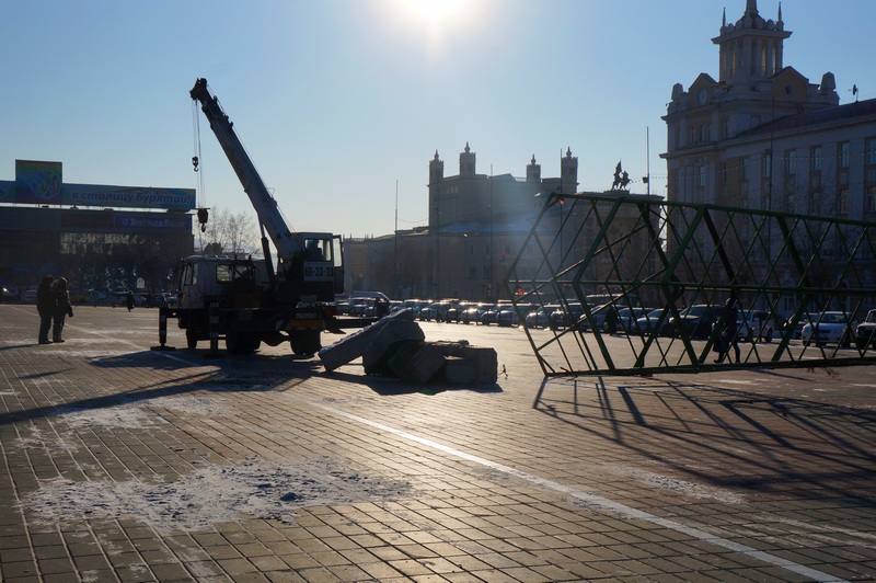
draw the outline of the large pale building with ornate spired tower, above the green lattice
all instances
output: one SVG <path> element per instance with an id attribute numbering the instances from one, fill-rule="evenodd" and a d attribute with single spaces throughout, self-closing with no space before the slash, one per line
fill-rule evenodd
<path id="1" fill-rule="evenodd" d="M 876 100 L 840 105 L 833 73 L 816 84 L 785 65 L 792 33 L 775 14 L 757 0 L 736 22 L 725 11 L 718 79 L 672 88 L 667 199 L 876 220 Z"/>

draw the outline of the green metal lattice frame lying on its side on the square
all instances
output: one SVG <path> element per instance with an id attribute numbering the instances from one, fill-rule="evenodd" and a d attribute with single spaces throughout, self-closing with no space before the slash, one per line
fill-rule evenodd
<path id="1" fill-rule="evenodd" d="M 876 361 L 875 258 L 876 224 L 554 193 L 505 287 L 545 377 L 846 366 Z"/>

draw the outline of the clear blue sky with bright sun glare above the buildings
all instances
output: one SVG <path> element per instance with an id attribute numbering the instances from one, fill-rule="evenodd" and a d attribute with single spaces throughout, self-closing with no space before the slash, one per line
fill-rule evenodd
<path id="1" fill-rule="evenodd" d="M 295 229 L 425 225 L 428 162 L 611 186 L 623 161 L 665 194 L 672 85 L 717 78 L 722 12 L 745 0 L 0 0 L 0 180 L 64 162 L 70 183 L 197 187 L 188 90 L 206 77 Z M 775 19 L 777 0 L 758 8 Z M 873 0 L 785 0 L 784 65 L 876 96 Z M 251 206 L 203 114 L 207 206 Z"/>

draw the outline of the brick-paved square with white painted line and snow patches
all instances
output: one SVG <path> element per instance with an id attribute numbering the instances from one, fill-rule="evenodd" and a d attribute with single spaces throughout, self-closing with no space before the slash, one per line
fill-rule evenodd
<path id="1" fill-rule="evenodd" d="M 0 580 L 876 579 L 872 367 L 543 381 L 519 330 L 422 325 L 507 375 L 150 351 L 140 308 L 39 345 L 0 306 Z"/>

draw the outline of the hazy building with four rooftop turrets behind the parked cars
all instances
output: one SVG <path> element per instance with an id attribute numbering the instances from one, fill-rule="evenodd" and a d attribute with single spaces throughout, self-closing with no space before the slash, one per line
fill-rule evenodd
<path id="1" fill-rule="evenodd" d="M 578 159 L 570 149 L 560 163 L 558 178 L 543 179 L 534 156 L 526 178 L 479 174 L 476 155 L 466 144 L 459 174 L 445 175 L 436 151 L 429 161 L 428 227 L 347 239 L 346 289 L 381 290 L 394 298 L 498 299 L 507 267 L 543 206 L 537 195 L 577 190 Z M 530 251 L 532 264 L 542 261 Z"/>

